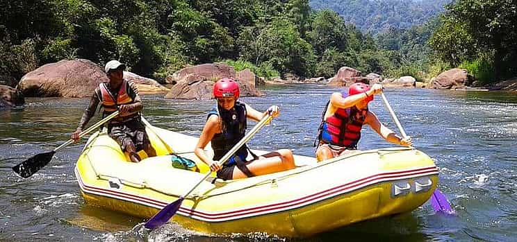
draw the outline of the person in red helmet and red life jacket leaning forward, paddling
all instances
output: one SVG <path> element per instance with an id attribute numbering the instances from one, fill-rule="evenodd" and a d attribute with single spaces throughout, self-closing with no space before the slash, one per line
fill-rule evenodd
<path id="1" fill-rule="evenodd" d="M 348 93 L 335 92 L 331 95 L 322 121 L 318 128 L 318 162 L 331 159 L 349 150 L 356 150 L 361 139 L 361 128 L 368 124 L 386 141 L 402 146 L 411 146 L 411 137 L 402 139 L 392 130 L 384 126 L 377 116 L 368 110 L 368 103 L 375 94 L 382 92 L 382 85 L 370 87 L 364 83 L 354 83 L 348 88 Z M 316 142 L 315 142 L 316 145 Z"/>

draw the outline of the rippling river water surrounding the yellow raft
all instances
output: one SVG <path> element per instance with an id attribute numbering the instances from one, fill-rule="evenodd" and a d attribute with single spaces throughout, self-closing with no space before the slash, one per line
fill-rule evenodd
<path id="1" fill-rule="evenodd" d="M 338 89 L 268 86 L 263 97 L 241 98 L 257 110 L 272 104 L 281 115 L 250 146 L 291 148 L 313 155 L 313 138 L 328 97 Z M 85 204 L 73 172 L 84 142 L 67 146 L 31 178 L 11 166 L 69 139 L 89 98 L 27 98 L 24 110 L 0 112 L 0 241 L 516 241 L 517 95 L 387 89 L 386 97 L 414 146 L 440 168 L 438 185 L 457 216 L 436 214 L 429 202 L 408 214 L 357 223 L 308 239 L 255 234 L 210 236 L 168 224 L 148 234 L 142 219 Z M 199 135 L 213 101 L 143 96 L 155 126 Z M 397 130 L 381 98 L 370 110 Z M 98 119 L 93 119 L 90 124 Z M 359 148 L 389 146 L 368 127 Z M 338 172 L 338 171 L 336 171 Z M 245 226 L 245 225 L 243 225 Z"/>

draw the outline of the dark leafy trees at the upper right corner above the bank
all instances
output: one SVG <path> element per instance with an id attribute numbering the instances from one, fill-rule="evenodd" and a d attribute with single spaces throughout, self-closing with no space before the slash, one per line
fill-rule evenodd
<path id="1" fill-rule="evenodd" d="M 458 0 L 430 40 L 437 55 L 481 83 L 517 75 L 517 1 Z"/>

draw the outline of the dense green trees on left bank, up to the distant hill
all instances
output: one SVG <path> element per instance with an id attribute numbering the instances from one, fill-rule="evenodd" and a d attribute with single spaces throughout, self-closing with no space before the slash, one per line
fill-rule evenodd
<path id="1" fill-rule="evenodd" d="M 0 15 L 4 83 L 70 58 L 115 58 L 158 80 L 222 60 L 265 76 L 326 77 L 344 65 L 368 72 L 388 62 L 372 37 L 307 0 L 8 0 Z"/>

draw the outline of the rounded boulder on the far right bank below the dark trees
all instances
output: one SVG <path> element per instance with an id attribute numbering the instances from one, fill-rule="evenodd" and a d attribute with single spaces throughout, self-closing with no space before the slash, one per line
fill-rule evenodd
<path id="1" fill-rule="evenodd" d="M 455 89 L 472 85 L 474 77 L 468 74 L 466 69 L 450 69 L 443 71 L 433 78 L 429 88 L 432 89 Z"/>

